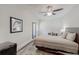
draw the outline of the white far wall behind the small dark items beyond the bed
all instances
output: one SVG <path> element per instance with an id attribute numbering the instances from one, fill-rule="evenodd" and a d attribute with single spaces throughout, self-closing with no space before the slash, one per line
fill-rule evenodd
<path id="1" fill-rule="evenodd" d="M 48 35 L 49 32 L 60 32 L 62 19 L 51 19 L 40 22 L 40 35 Z"/>

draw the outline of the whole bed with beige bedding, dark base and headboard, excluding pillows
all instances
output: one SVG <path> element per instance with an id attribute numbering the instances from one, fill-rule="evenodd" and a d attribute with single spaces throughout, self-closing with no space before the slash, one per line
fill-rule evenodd
<path id="1" fill-rule="evenodd" d="M 34 43 L 38 49 L 48 52 L 58 53 L 66 52 L 72 54 L 78 54 L 79 52 L 79 30 L 78 28 L 66 28 L 67 32 L 76 32 L 76 38 L 74 41 L 69 41 L 60 36 L 38 36 L 35 38 Z"/>

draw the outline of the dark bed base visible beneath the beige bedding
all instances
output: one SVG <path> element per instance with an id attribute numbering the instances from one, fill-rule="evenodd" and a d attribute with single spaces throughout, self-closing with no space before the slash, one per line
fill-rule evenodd
<path id="1" fill-rule="evenodd" d="M 74 54 L 72 52 L 67 52 L 67 51 L 62 51 L 62 50 L 56 50 L 56 49 L 50 49 L 50 48 L 40 47 L 40 46 L 36 46 L 36 48 L 38 48 L 39 50 L 48 52 L 48 53 L 55 54 L 55 55 Z"/>

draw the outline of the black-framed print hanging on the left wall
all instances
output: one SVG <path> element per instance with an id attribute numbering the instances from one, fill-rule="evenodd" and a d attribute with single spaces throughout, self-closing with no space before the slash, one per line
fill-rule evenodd
<path id="1" fill-rule="evenodd" d="M 23 20 L 10 17 L 10 33 L 23 32 Z"/>

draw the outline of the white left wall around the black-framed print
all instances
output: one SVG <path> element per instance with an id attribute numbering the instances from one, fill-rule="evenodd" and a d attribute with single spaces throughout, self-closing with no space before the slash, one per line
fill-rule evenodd
<path id="1" fill-rule="evenodd" d="M 0 42 L 15 42 L 20 49 L 32 40 L 33 8 L 33 5 L 0 5 Z M 10 33 L 10 16 L 23 20 L 23 32 Z"/>

